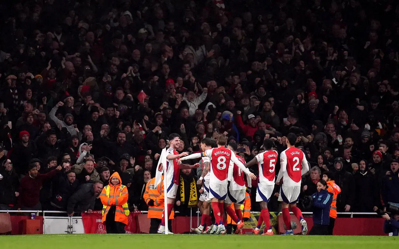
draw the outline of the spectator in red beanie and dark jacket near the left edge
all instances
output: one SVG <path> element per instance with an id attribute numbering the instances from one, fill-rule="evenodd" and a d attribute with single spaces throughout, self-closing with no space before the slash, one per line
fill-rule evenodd
<path id="1" fill-rule="evenodd" d="M 28 131 L 20 131 L 20 141 L 14 145 L 14 149 L 10 151 L 9 158 L 11 159 L 14 170 L 18 175 L 25 175 L 28 173 L 29 161 L 36 155 L 36 144 L 30 140 Z"/>

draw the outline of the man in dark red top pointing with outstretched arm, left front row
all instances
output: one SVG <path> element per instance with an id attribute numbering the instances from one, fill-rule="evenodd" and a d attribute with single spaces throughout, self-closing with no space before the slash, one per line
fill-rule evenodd
<path id="1" fill-rule="evenodd" d="M 61 166 L 58 166 L 48 173 L 40 174 L 36 164 L 31 163 L 28 174 L 21 179 L 20 190 L 18 191 L 20 196 L 17 201 L 18 210 L 41 210 L 39 192 L 43 181 L 51 179 L 61 169 Z"/>

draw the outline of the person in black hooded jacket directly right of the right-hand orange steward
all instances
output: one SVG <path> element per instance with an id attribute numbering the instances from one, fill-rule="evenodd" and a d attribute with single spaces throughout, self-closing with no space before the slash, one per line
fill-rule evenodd
<path id="1" fill-rule="evenodd" d="M 341 187 L 341 193 L 337 198 L 337 211 L 348 212 L 354 203 L 355 198 L 355 185 L 353 175 L 343 169 L 344 159 L 336 157 L 334 159 L 334 180 L 335 183 Z"/>

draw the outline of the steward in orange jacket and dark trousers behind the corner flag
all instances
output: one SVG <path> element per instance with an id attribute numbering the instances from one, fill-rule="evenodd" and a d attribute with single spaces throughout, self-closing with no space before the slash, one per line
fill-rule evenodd
<path id="1" fill-rule="evenodd" d="M 157 233 L 162 219 L 162 212 L 164 211 L 164 181 L 161 181 L 157 186 L 155 186 L 155 177 L 152 178 L 146 185 L 146 191 L 143 194 L 143 199 L 148 205 L 147 217 L 151 220 L 150 233 Z M 174 212 L 172 211 L 172 213 L 170 213 L 169 219 L 173 218 Z"/>

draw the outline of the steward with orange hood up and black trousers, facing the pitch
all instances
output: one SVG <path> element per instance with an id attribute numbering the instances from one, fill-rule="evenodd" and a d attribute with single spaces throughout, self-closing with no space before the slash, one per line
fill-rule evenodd
<path id="1" fill-rule="evenodd" d="M 103 188 L 100 194 L 103 203 L 103 223 L 107 227 L 107 233 L 125 233 L 124 227 L 128 223 L 129 194 L 127 187 L 122 185 L 119 173 L 115 172 L 109 179 L 109 185 Z"/>

